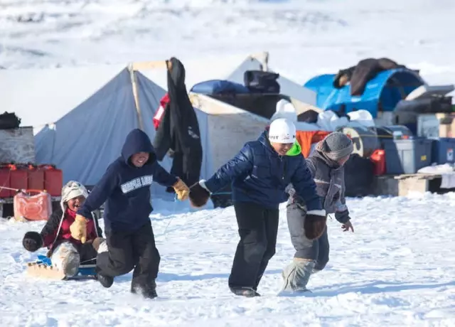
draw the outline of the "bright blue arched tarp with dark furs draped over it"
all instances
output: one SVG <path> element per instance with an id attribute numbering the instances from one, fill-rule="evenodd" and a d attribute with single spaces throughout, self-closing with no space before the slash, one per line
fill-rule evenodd
<path id="1" fill-rule="evenodd" d="M 333 87 L 334 77 L 334 74 L 319 75 L 304 84 L 316 92 L 316 106 L 338 112 L 344 104 L 346 113 L 365 109 L 373 118 L 378 116 L 378 111 L 393 111 L 400 100 L 424 84 L 422 77 L 412 70 L 385 70 L 368 81 L 363 95 L 351 96 L 350 85 L 341 89 Z"/>

